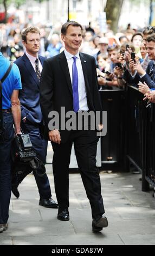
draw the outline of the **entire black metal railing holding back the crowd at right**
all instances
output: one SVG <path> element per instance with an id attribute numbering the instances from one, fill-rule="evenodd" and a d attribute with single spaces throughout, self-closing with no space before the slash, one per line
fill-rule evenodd
<path id="1" fill-rule="evenodd" d="M 155 104 L 143 101 L 138 88 L 101 90 L 107 111 L 107 135 L 101 138 L 102 167 L 128 171 L 132 165 L 142 174 L 142 190 L 155 187 Z"/>

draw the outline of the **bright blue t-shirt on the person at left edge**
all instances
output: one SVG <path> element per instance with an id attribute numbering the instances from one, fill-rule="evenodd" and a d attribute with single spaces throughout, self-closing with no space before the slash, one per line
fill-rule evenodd
<path id="1" fill-rule="evenodd" d="M 7 72 L 9 68 L 10 62 L 7 58 L 5 58 L 0 52 L 0 80 L 4 76 L 4 74 Z M 10 108 L 11 107 L 11 95 L 13 90 L 20 90 L 22 89 L 22 83 L 21 83 L 21 75 L 20 70 L 18 69 L 18 66 L 14 63 L 12 65 L 12 69 L 7 76 L 7 78 L 4 80 L 2 84 L 2 103 L 3 109 Z"/>

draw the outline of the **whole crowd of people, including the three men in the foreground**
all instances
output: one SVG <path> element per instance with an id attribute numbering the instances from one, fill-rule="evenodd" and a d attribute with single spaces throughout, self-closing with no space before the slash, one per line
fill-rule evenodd
<path id="1" fill-rule="evenodd" d="M 53 174 L 57 203 L 51 197 L 46 173 L 34 172 L 39 204 L 58 208 L 57 219 L 69 221 L 69 162 L 74 143 L 82 182 L 92 210 L 92 230 L 108 226 L 96 168 L 96 131 L 102 130 L 99 90 L 125 88 L 133 84 L 155 103 L 155 27 L 140 31 L 127 28 L 116 35 L 69 21 L 59 29 L 34 26 L 0 25 L 0 232 L 7 230 L 11 190 L 20 197 L 18 182 L 11 185 L 11 142 L 16 135 L 28 133 L 33 149 L 46 163 L 47 143 L 51 141 Z M 10 60 L 14 64 L 10 64 Z M 62 114 L 61 108 L 65 107 Z M 73 111 L 100 112 L 98 128 L 50 129 L 52 115 L 59 120 Z M 61 161 L 60 161 L 61 159 Z M 38 172 L 40 172 L 38 167 Z"/>

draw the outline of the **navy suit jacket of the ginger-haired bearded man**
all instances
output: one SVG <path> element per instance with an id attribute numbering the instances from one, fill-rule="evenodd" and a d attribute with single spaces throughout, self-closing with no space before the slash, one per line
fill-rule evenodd
<path id="1" fill-rule="evenodd" d="M 42 56 L 38 56 L 38 58 L 43 66 L 43 62 L 46 58 Z M 25 53 L 22 57 L 18 58 L 15 63 L 20 69 L 22 80 L 22 90 L 19 96 L 21 102 L 21 117 L 22 119 L 27 117 L 31 123 L 41 123 L 40 90 L 36 72 Z"/>

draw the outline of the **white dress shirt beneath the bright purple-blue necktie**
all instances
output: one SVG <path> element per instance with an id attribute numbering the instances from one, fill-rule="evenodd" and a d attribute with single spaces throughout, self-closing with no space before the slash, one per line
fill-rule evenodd
<path id="1" fill-rule="evenodd" d="M 67 63 L 68 63 L 70 80 L 71 80 L 71 83 L 73 83 L 72 66 L 73 66 L 73 62 L 74 62 L 74 59 L 73 59 L 74 55 L 67 52 L 66 49 L 64 50 L 64 54 L 66 56 Z M 85 79 L 83 76 L 83 70 L 82 70 L 79 52 L 75 55 L 75 57 L 77 57 L 76 58 L 76 66 L 78 69 L 79 111 L 87 111 L 88 105 L 87 105 L 86 86 L 85 86 Z"/>

